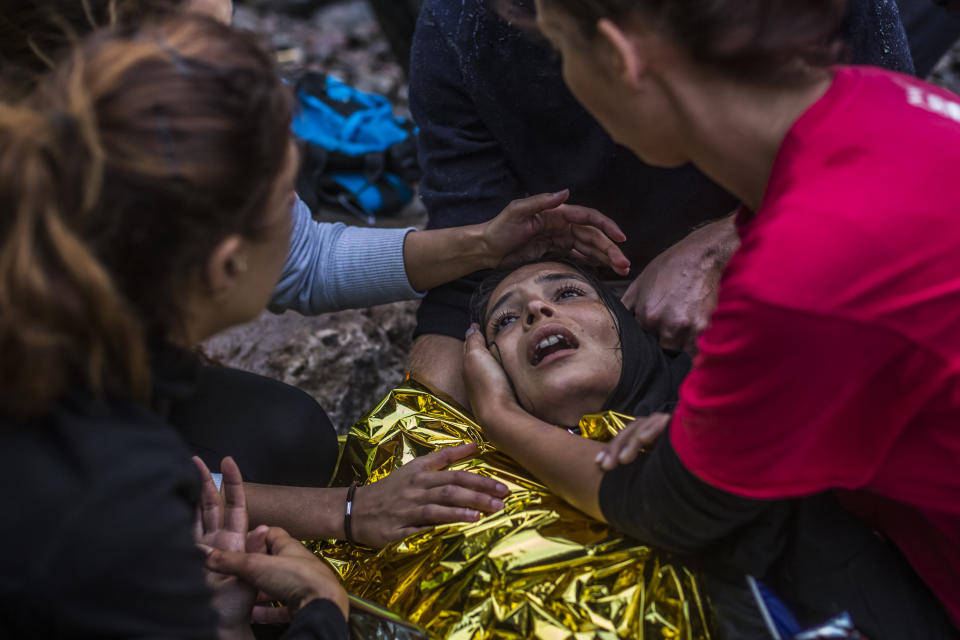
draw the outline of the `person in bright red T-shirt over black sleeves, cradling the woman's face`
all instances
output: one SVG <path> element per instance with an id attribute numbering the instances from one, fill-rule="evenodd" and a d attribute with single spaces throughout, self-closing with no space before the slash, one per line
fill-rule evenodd
<path id="1" fill-rule="evenodd" d="M 615 140 L 741 199 L 741 247 L 672 419 L 606 449 L 553 429 L 474 329 L 465 374 L 487 436 L 572 504 L 681 552 L 833 493 L 960 625 L 960 98 L 833 67 L 837 0 L 537 7 Z M 514 330 L 532 336 L 544 308 Z"/>

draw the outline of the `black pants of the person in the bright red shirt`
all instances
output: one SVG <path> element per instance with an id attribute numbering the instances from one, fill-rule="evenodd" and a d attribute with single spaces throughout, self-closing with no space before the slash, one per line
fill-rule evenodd
<path id="1" fill-rule="evenodd" d="M 871 640 L 957 640 L 936 596 L 899 550 L 823 494 L 774 505 L 732 544 L 701 557 L 722 640 L 770 638 L 740 571 L 756 575 L 803 627 L 848 612 Z"/>

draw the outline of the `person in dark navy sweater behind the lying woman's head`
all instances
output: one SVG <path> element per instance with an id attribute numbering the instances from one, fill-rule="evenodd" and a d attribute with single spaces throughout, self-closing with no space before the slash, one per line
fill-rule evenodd
<path id="1" fill-rule="evenodd" d="M 504 5 L 521 11 L 505 17 Z M 692 350 L 737 247 L 728 217 L 736 200 L 690 165 L 654 167 L 616 144 L 564 85 L 555 52 L 525 28 L 532 5 L 423 3 L 410 110 L 428 227 L 473 224 L 514 198 L 569 188 L 572 202 L 609 215 L 627 234 L 627 307 L 664 346 Z M 844 33 L 851 62 L 922 77 L 960 36 L 960 20 L 930 0 L 853 0 Z M 427 294 L 410 355 L 419 379 L 461 403 L 461 340 L 482 278 Z"/>

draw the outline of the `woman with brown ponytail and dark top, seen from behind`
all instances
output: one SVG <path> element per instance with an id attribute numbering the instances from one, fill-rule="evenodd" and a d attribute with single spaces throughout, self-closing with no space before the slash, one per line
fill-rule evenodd
<path id="1" fill-rule="evenodd" d="M 3 530 L 29 532 L 4 540 L 0 606 L 17 635 L 213 635 L 189 534 L 196 473 L 165 409 L 194 383 L 191 349 L 262 311 L 276 285 L 297 167 L 290 115 L 289 89 L 254 38 L 186 16 L 99 32 L 25 100 L 0 105 Z M 519 214 L 501 223 L 530 222 Z M 540 231 L 425 233 L 416 246 L 469 240 L 486 260 L 522 253 L 528 240 L 536 252 L 537 240 L 550 244 Z M 435 260 L 430 277 L 440 277 L 443 255 L 417 260 Z M 226 467 L 236 515 L 239 474 Z M 346 489 L 317 491 L 314 517 L 343 535 Z M 490 507 L 499 488 L 414 470 L 365 494 L 357 532 L 362 524 L 375 543 L 418 522 L 476 517 L 449 506 L 469 503 L 464 492 Z M 210 502 L 205 512 L 217 510 Z M 201 539 L 218 538 L 218 520 L 203 519 Z M 231 521 L 242 542 L 245 518 Z M 289 546 L 258 535 L 255 549 Z M 323 576 L 307 582 L 329 586 Z M 306 604 L 321 592 L 302 584 L 274 595 Z"/>

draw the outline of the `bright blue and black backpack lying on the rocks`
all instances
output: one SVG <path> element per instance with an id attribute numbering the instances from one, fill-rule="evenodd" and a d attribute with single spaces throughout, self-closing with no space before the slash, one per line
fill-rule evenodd
<path id="1" fill-rule="evenodd" d="M 417 129 L 390 101 L 322 73 L 295 85 L 293 133 L 305 143 L 297 192 L 311 210 L 339 205 L 373 223 L 398 213 L 420 178 Z"/>

